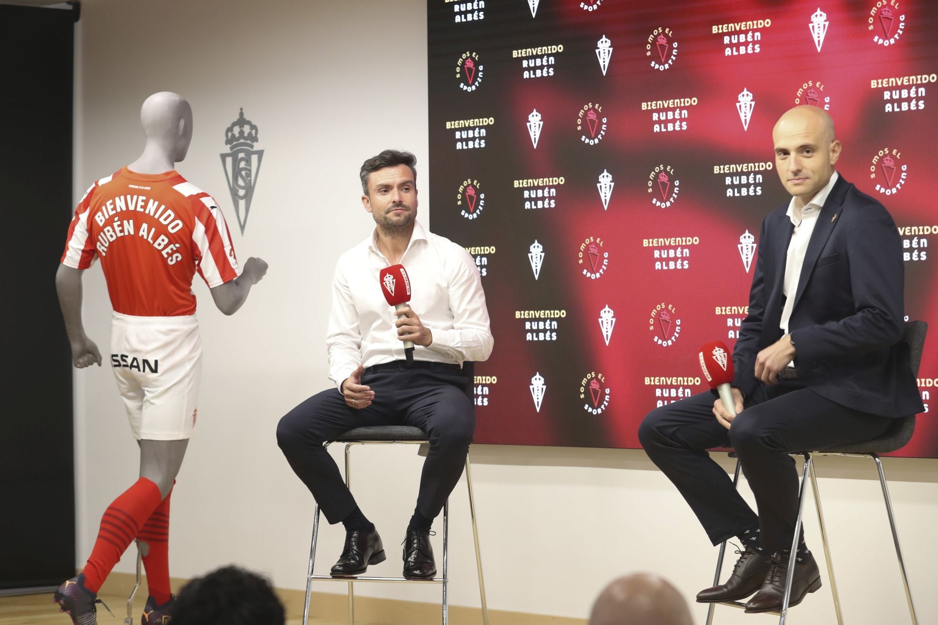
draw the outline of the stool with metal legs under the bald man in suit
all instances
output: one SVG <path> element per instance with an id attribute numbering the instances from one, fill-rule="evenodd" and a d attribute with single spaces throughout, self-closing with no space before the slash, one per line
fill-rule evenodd
<path id="1" fill-rule="evenodd" d="M 909 353 L 912 361 L 912 372 L 918 376 L 918 365 L 922 361 L 922 350 L 925 346 L 925 335 L 928 332 L 928 324 L 925 321 L 909 321 L 905 324 L 905 332 L 901 341 L 909 346 Z M 797 540 L 801 533 L 801 514 L 805 507 L 805 485 L 810 476 L 811 489 L 814 491 L 814 507 L 818 513 L 818 524 L 821 527 L 821 543 L 824 544 L 824 555 L 827 563 L 827 576 L 830 580 L 831 593 L 834 595 L 834 610 L 837 612 L 838 625 L 843 625 L 843 617 L 840 615 L 840 597 L 837 594 L 837 583 L 834 581 L 834 568 L 830 558 L 830 548 L 827 543 L 827 528 L 824 522 L 824 513 L 821 511 L 821 494 L 818 491 L 817 477 L 814 475 L 813 456 L 817 455 L 839 455 L 842 457 L 869 457 L 876 463 L 876 469 L 879 471 L 880 485 L 883 487 L 883 499 L 885 499 L 885 512 L 889 517 L 889 527 L 892 529 L 892 541 L 896 544 L 896 557 L 899 558 L 899 572 L 902 576 L 902 587 L 905 588 L 905 599 L 909 603 L 909 614 L 912 617 L 913 625 L 918 624 L 915 618 L 915 605 L 912 603 L 912 592 L 909 590 L 909 578 L 905 573 L 905 562 L 902 560 L 902 550 L 899 546 L 899 534 L 896 532 L 896 520 L 892 514 L 892 504 L 889 501 L 889 489 L 885 484 L 885 472 L 883 471 L 883 462 L 880 460 L 880 454 L 895 452 L 905 446 L 915 431 L 915 415 L 910 414 L 899 419 L 885 431 L 883 436 L 878 439 L 858 442 L 848 445 L 840 445 L 829 449 L 822 449 L 816 452 L 798 452 L 792 455 L 801 455 L 804 457 L 804 467 L 801 472 L 801 489 L 798 493 L 798 520 L 794 526 L 794 540 L 788 561 L 788 579 L 785 582 L 785 596 L 782 600 L 781 611 L 769 612 L 779 617 L 779 625 L 784 625 L 788 613 L 788 602 L 792 591 L 792 579 L 794 578 L 794 557 L 797 550 Z M 733 477 L 733 484 L 739 481 L 739 461 L 736 461 L 736 470 Z M 717 558 L 717 573 L 714 575 L 714 586 L 719 584 L 719 573 L 723 566 L 723 554 L 726 551 L 726 541 L 719 545 L 719 556 Z M 727 602 L 722 605 L 732 605 L 734 607 L 745 607 L 742 602 Z M 707 612 L 706 625 L 711 625 L 714 618 L 714 608 L 716 603 L 710 604 Z"/>

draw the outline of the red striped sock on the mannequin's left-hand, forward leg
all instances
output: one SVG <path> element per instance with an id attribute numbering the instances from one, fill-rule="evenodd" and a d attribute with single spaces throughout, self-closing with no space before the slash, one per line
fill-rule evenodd
<path id="1" fill-rule="evenodd" d="M 84 565 L 84 588 L 98 592 L 117 560 L 137 537 L 141 526 L 159 506 L 159 486 L 140 478 L 114 499 L 101 517 L 98 540 Z"/>

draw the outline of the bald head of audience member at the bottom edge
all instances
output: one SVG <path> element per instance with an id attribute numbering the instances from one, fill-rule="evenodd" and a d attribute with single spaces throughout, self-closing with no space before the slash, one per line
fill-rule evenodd
<path id="1" fill-rule="evenodd" d="M 632 573 L 597 597 L 589 625 L 693 625 L 688 603 L 663 577 Z"/>

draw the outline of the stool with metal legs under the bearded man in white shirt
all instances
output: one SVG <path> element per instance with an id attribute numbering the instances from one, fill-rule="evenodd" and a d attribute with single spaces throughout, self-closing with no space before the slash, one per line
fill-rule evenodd
<path id="1" fill-rule="evenodd" d="M 472 398 L 472 380 L 473 380 L 473 368 L 472 363 L 464 363 L 462 366 L 463 374 L 469 378 L 470 384 L 468 386 L 467 393 Z M 410 444 L 410 445 L 429 445 L 427 439 L 427 434 L 419 427 L 413 427 L 410 425 L 379 425 L 373 427 L 356 427 L 355 429 L 348 430 L 340 436 L 336 437 L 335 440 L 326 441 L 325 446 L 328 446 L 332 442 L 345 443 L 345 484 L 351 488 L 351 464 L 350 464 L 350 455 L 349 452 L 352 449 L 353 445 L 395 445 L 395 444 Z M 426 449 L 421 447 L 421 451 Z M 466 455 L 466 485 L 469 490 L 469 514 L 472 517 L 472 533 L 473 540 L 476 543 L 476 568 L 478 571 L 478 592 L 479 597 L 482 600 L 482 621 L 484 625 L 489 625 L 489 609 L 485 603 L 485 584 L 482 581 L 482 557 L 479 554 L 478 549 L 478 529 L 476 525 L 476 500 L 473 497 L 472 490 L 472 472 L 471 465 L 469 462 L 469 456 Z M 328 580 L 328 581 L 344 581 L 348 582 L 349 585 L 349 625 L 355 625 L 355 582 L 396 582 L 402 584 L 442 584 L 443 585 L 443 625 L 446 625 L 448 620 L 448 607 L 446 599 L 446 586 L 449 583 L 448 570 L 447 570 L 447 558 L 448 558 L 448 544 L 447 544 L 447 526 L 449 521 L 449 500 L 446 500 L 446 503 L 443 506 L 443 573 L 440 577 L 434 577 L 433 579 L 427 580 L 418 580 L 418 579 L 407 579 L 405 577 L 374 577 L 371 575 L 356 575 L 353 577 L 333 577 L 331 575 L 315 575 L 312 572 L 312 565 L 316 559 L 316 537 L 319 533 L 319 504 L 316 504 L 316 511 L 314 513 L 314 519 L 312 522 L 312 543 L 310 544 L 310 567 L 307 571 L 307 582 L 306 582 L 306 603 L 303 606 L 303 625 L 307 625 L 310 618 L 310 592 L 312 587 L 313 580 Z"/>

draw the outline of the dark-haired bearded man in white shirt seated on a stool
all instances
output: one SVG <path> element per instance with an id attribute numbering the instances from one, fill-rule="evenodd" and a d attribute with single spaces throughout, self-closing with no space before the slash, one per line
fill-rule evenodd
<path id="1" fill-rule="evenodd" d="M 385 150 L 362 165 L 361 201 L 376 228 L 336 265 L 326 337 L 336 389 L 313 395 L 277 428 L 280 449 L 326 520 L 345 526 L 333 575 L 364 573 L 369 564 L 384 561 L 385 552 L 323 442 L 368 425 L 416 425 L 427 433 L 430 452 L 404 540 L 403 574 L 432 578 L 431 523 L 459 481 L 476 426 L 468 394 L 472 380 L 462 375 L 461 365 L 492 353 L 475 262 L 461 246 L 416 221 L 415 164 L 408 152 Z M 410 305 L 395 310 L 387 305 L 379 275 L 398 263 L 410 276 L 413 296 Z M 417 346 L 412 364 L 404 358 L 403 341 Z"/>

